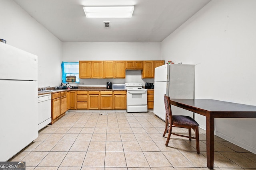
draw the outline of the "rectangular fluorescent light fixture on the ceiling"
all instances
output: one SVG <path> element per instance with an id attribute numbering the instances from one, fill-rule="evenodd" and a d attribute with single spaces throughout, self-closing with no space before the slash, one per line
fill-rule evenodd
<path id="1" fill-rule="evenodd" d="M 132 18 L 134 6 L 84 6 L 86 18 Z"/>

